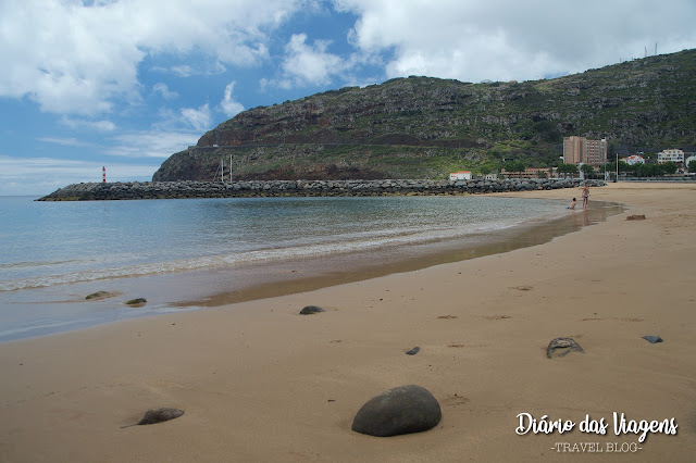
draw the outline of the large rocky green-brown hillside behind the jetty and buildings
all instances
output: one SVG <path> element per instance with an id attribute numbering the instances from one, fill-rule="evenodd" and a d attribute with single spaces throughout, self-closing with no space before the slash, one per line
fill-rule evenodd
<path id="1" fill-rule="evenodd" d="M 558 162 L 563 136 L 613 149 L 696 145 L 696 50 L 556 79 L 470 84 L 409 77 L 254 108 L 173 154 L 153 180 L 444 178 L 505 160 Z M 228 167 L 227 167 L 228 168 Z"/>

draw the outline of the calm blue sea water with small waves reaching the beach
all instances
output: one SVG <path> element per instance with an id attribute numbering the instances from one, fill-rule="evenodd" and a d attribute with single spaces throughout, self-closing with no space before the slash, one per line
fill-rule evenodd
<path id="1" fill-rule="evenodd" d="M 485 196 L 95 202 L 0 197 L 0 341 L 184 310 L 182 301 L 239 289 L 287 265 L 302 268 L 302 262 L 481 241 L 567 216 L 566 205 Z M 121 297 L 84 300 L 100 289 Z M 146 308 L 123 304 L 145 295 Z"/>

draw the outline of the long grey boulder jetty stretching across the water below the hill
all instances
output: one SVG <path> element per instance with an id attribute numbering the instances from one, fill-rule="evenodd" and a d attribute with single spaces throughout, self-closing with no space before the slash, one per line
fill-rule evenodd
<path id="1" fill-rule="evenodd" d="M 127 199 L 256 198 L 477 195 L 500 191 L 577 188 L 577 178 L 497 180 L 249 180 L 249 182 L 128 182 L 84 183 L 60 188 L 37 201 L 102 201 Z M 587 180 L 591 187 L 604 180 Z"/>

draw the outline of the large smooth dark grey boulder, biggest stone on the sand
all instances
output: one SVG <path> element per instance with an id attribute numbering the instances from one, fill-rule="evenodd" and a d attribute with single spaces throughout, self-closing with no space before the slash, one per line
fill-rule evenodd
<path id="1" fill-rule="evenodd" d="M 439 423 L 437 399 L 417 385 L 399 386 L 373 397 L 358 411 L 352 430 L 376 437 L 421 433 Z"/>

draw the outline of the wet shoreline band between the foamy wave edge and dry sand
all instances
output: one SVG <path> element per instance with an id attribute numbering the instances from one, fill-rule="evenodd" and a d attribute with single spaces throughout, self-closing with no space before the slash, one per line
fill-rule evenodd
<path id="1" fill-rule="evenodd" d="M 378 249 L 278 262 L 124 275 L 8 291 L 3 296 L 5 308 L 0 313 L 4 317 L 0 342 L 88 329 L 126 318 L 206 310 L 307 292 L 391 273 L 509 252 L 537 246 L 583 226 L 606 221 L 607 216 L 621 210 L 619 204 L 596 202 L 595 208 L 586 211 L 568 211 L 556 218 L 530 220 L 511 227 L 457 238 L 433 238 L 406 246 L 387 245 Z M 85 300 L 85 296 L 97 291 L 111 296 Z M 133 298 L 145 298 L 148 302 L 139 308 L 125 306 L 124 301 Z"/>

